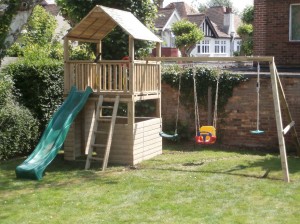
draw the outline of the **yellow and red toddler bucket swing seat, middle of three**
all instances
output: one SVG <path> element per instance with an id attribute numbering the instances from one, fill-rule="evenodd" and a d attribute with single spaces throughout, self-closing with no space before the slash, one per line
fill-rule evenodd
<path id="1" fill-rule="evenodd" d="M 211 145 L 217 140 L 216 129 L 213 126 L 202 126 L 195 136 L 195 142 L 200 145 Z"/>

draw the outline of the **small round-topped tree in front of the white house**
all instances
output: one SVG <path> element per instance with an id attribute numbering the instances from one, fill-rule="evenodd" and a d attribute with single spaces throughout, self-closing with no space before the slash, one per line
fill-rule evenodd
<path id="1" fill-rule="evenodd" d="M 175 45 L 183 57 L 188 57 L 196 43 L 204 38 L 197 25 L 185 19 L 173 23 L 172 32 L 175 35 Z"/>

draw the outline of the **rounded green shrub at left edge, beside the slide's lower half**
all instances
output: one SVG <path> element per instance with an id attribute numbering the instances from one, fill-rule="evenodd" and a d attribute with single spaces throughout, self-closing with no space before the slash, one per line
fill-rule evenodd
<path id="1" fill-rule="evenodd" d="M 0 160 L 27 155 L 38 137 L 38 121 L 27 108 L 12 101 L 0 108 Z"/>

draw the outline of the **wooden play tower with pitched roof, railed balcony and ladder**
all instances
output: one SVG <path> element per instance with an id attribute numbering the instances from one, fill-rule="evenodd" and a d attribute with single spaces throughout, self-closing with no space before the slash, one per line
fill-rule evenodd
<path id="1" fill-rule="evenodd" d="M 116 26 L 129 36 L 128 60 L 103 60 L 101 40 Z M 64 143 L 66 160 L 88 154 L 90 146 L 93 155 L 101 158 L 110 144 L 111 163 L 134 165 L 162 153 L 161 129 L 161 65 L 158 61 L 134 59 L 134 40 L 156 43 L 160 56 L 161 40 L 148 30 L 130 12 L 95 6 L 64 38 L 64 95 L 72 86 L 85 90 L 90 86 L 90 95 L 83 110 L 71 125 Z M 71 41 L 96 43 L 97 61 L 75 61 L 69 59 Z M 99 60 L 98 60 L 99 59 Z M 100 97 L 101 96 L 101 97 Z M 104 103 L 123 104 L 127 116 L 106 115 L 101 118 Z M 138 101 L 154 100 L 156 112 L 153 117 L 136 117 L 135 104 Z M 117 101 L 117 103 L 116 103 Z M 114 120 L 112 122 L 111 120 Z M 95 129 L 95 124 L 97 124 Z M 112 128 L 113 131 L 110 131 Z M 95 159 L 98 160 L 98 159 Z M 101 160 L 101 159 L 99 159 Z"/>

